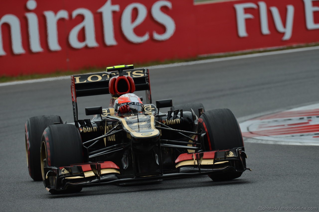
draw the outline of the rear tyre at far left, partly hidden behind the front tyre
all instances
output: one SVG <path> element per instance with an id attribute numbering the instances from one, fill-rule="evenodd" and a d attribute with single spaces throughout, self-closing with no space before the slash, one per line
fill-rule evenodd
<path id="1" fill-rule="evenodd" d="M 26 161 L 30 177 L 42 180 L 40 163 L 40 144 L 44 129 L 54 123 L 62 123 L 61 117 L 56 115 L 45 115 L 31 117 L 26 121 Z"/>

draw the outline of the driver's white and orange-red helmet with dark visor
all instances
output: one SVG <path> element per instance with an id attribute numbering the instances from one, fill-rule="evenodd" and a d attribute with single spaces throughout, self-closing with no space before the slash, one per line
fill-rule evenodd
<path id="1" fill-rule="evenodd" d="M 141 99 L 135 94 L 123 94 L 118 97 L 114 102 L 115 115 L 130 112 L 132 109 L 143 111 L 143 103 Z"/>

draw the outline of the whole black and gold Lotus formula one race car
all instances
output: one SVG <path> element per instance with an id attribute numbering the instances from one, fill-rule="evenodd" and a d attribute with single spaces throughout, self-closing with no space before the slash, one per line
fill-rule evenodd
<path id="1" fill-rule="evenodd" d="M 243 139 L 228 109 L 205 112 L 201 103 L 152 104 L 148 69 L 107 67 L 106 73 L 71 76 L 74 123 L 59 116 L 26 122 L 26 155 L 33 180 L 52 193 L 83 187 L 134 184 L 195 175 L 232 180 L 246 168 Z M 133 94 L 145 90 L 143 98 Z M 109 108 L 85 108 L 77 97 L 110 94 Z M 160 108 L 170 107 L 167 113 Z"/>

